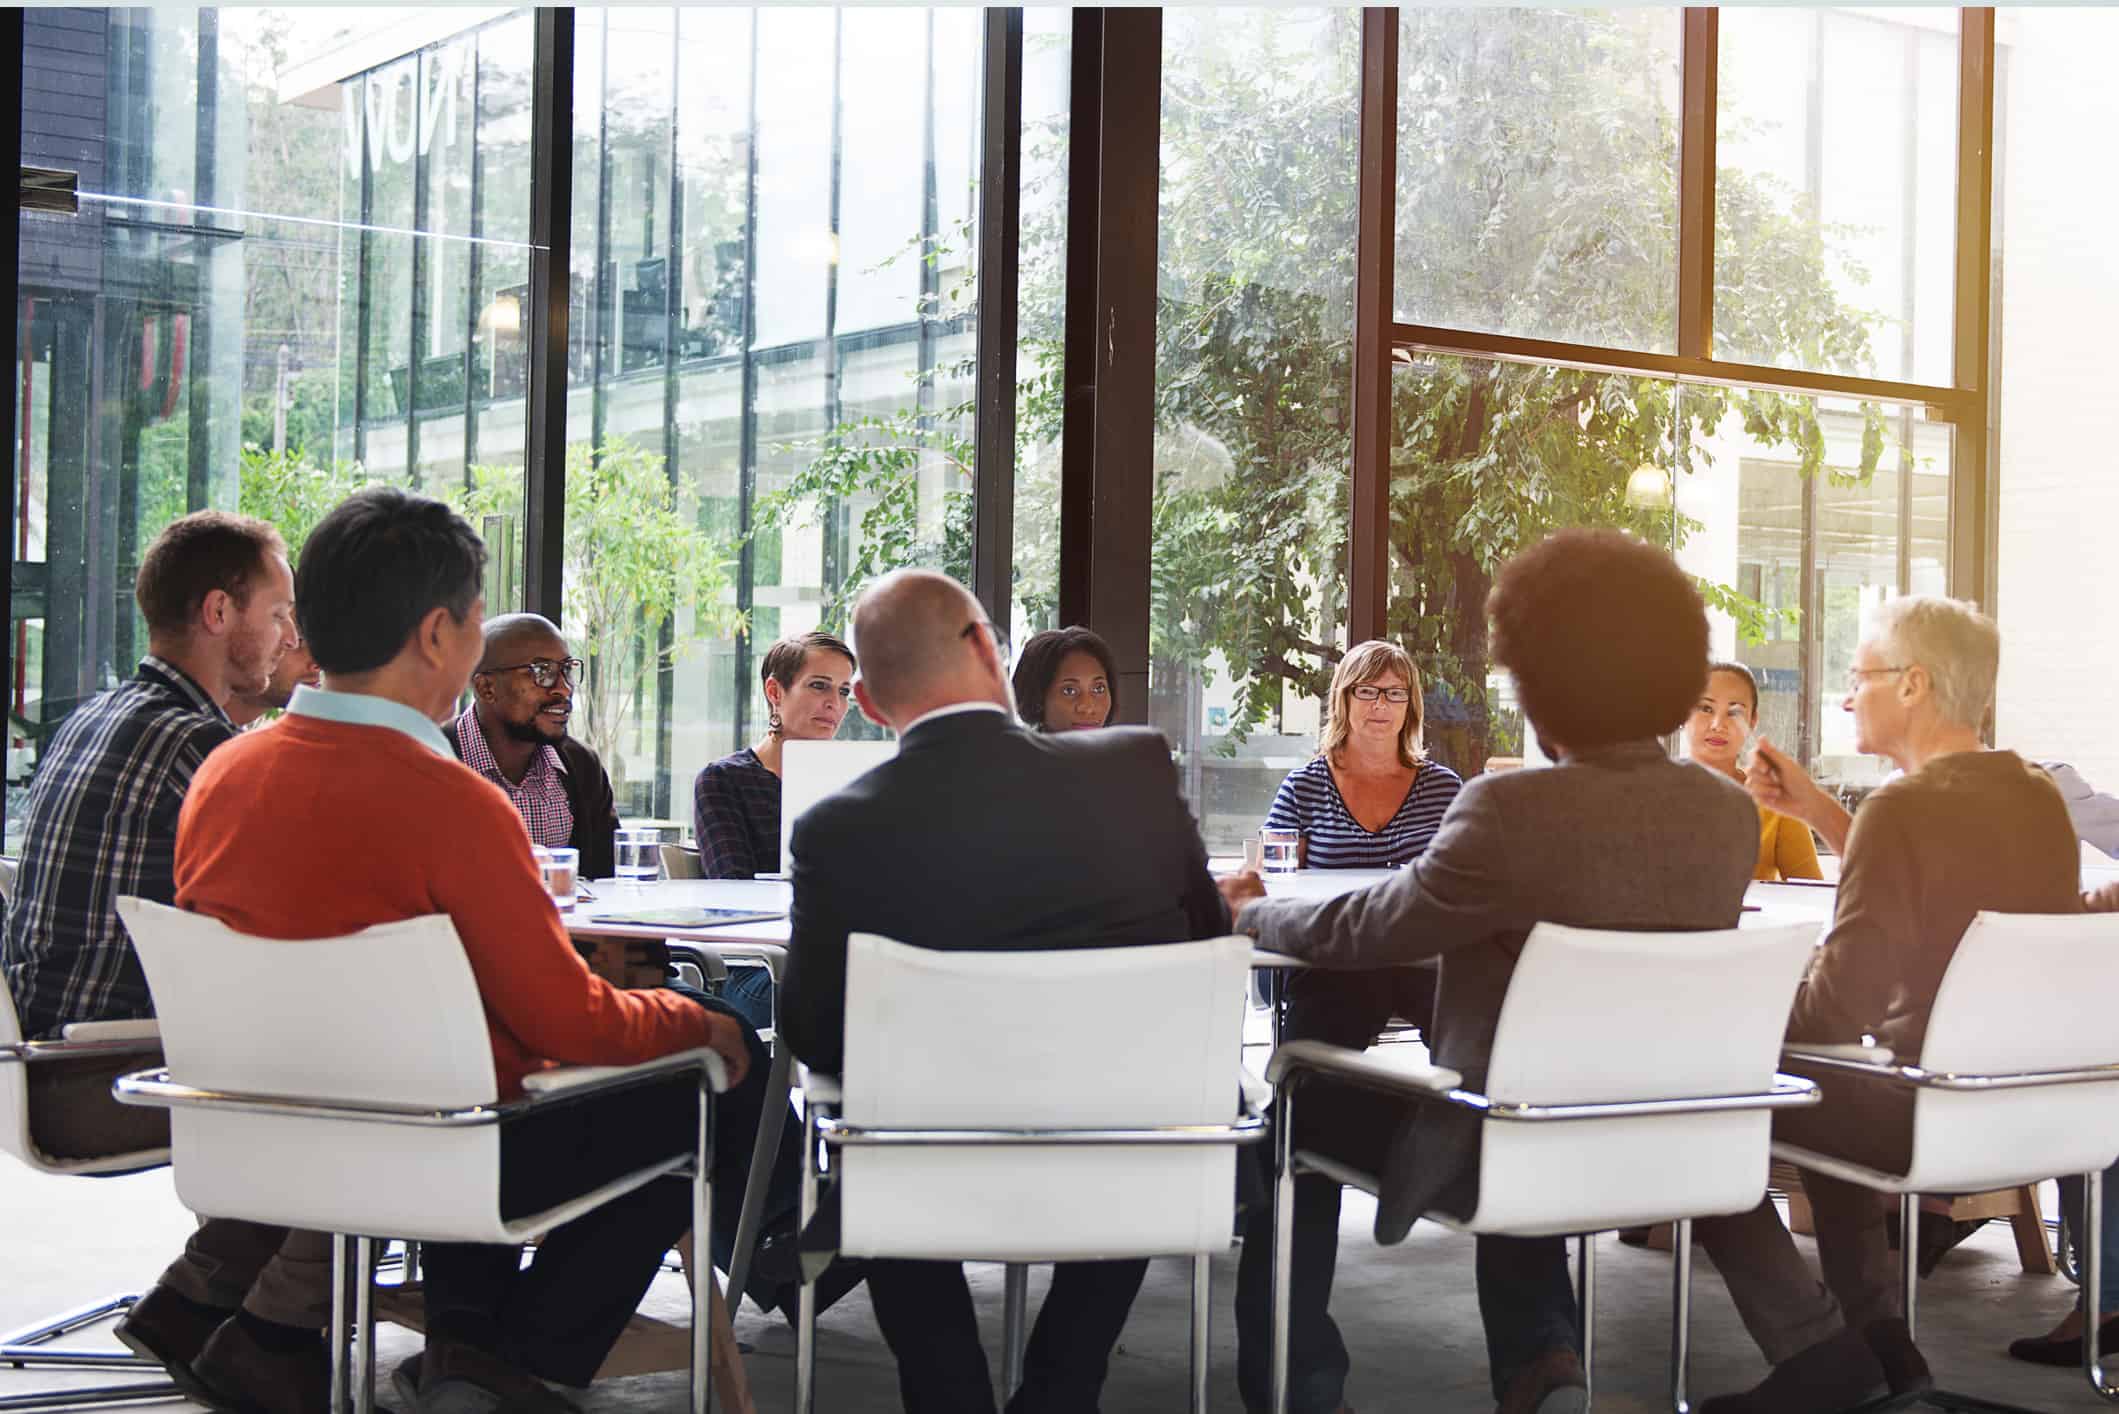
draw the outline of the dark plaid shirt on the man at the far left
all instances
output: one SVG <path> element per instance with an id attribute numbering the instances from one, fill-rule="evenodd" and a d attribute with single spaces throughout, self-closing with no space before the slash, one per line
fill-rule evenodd
<path id="1" fill-rule="evenodd" d="M 176 901 L 176 814 L 206 753 L 231 736 L 206 689 L 159 657 L 59 725 L 30 782 L 0 941 L 25 1037 L 155 1015 L 117 899 Z"/>

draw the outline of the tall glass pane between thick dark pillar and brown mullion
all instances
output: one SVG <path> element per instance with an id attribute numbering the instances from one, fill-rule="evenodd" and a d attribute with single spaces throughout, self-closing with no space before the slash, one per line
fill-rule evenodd
<path id="1" fill-rule="evenodd" d="M 1358 72 L 1358 11 L 1163 13 L 1148 712 L 1214 852 L 1346 647 Z"/>

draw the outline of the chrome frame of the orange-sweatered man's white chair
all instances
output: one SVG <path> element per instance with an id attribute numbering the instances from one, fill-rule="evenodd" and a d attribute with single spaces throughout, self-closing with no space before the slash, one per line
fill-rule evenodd
<path id="1" fill-rule="evenodd" d="M 706 1257 L 714 1240 L 714 1088 L 697 1056 L 651 1060 L 617 1075 L 572 1081 L 562 1090 L 496 1104 L 424 1109 L 415 1104 L 371 1104 L 356 1100 L 305 1100 L 299 1096 L 199 1090 L 170 1079 L 167 1068 L 121 1075 L 114 1094 L 121 1104 L 150 1109 L 212 1109 L 222 1113 L 278 1115 L 284 1119 L 337 1119 L 352 1124 L 460 1130 L 504 1124 L 559 1104 L 602 1098 L 651 1081 L 693 1071 L 699 1083 L 699 1132 L 693 1145 L 691 1221 L 699 1259 L 691 1270 L 691 1412 L 712 1414 L 710 1300 L 714 1263 Z M 331 1410 L 333 1414 L 375 1414 L 375 1257 L 377 1236 L 331 1234 Z M 352 1291 L 348 1291 L 348 1285 Z"/>

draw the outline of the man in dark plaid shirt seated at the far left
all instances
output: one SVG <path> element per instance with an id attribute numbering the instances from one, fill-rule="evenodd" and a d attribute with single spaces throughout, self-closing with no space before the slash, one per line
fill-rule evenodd
<path id="1" fill-rule="evenodd" d="M 0 969 L 23 1035 L 155 1013 L 119 895 L 176 899 L 176 812 L 193 772 L 235 729 L 231 693 L 261 691 L 295 642 L 295 577 L 280 532 L 225 511 L 163 530 L 133 587 L 148 625 L 140 672 L 81 708 L 30 782 L 21 871 Z M 32 1066 L 30 1130 L 55 1157 L 167 1143 L 167 1115 L 110 1100 L 104 1066 Z"/>

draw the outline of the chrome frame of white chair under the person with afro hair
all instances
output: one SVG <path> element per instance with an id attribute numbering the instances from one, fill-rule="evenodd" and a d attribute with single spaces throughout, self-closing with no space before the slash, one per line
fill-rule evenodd
<path id="1" fill-rule="evenodd" d="M 1445 1073 L 1447 1075 L 1447 1073 Z M 1596 1104 L 1521 1104 L 1494 1100 L 1460 1085 L 1437 1088 L 1420 1075 L 1390 1075 L 1363 1064 L 1363 1051 L 1297 1041 L 1274 1051 L 1267 1079 L 1274 1083 L 1274 1414 L 1288 1410 L 1288 1323 L 1293 1308 L 1290 1274 L 1295 1270 L 1295 1179 L 1316 1172 L 1337 1183 L 1379 1194 L 1382 1179 L 1350 1164 L 1295 1147 L 1295 1092 L 1310 1077 L 1371 1090 L 1399 1100 L 1426 1100 L 1468 1109 L 1483 1119 L 1502 1124 L 1568 1124 L 1579 1119 L 1640 1119 L 1649 1115 L 1704 1115 L 1748 1109 L 1795 1109 L 1820 1100 L 1814 1081 L 1795 1075 L 1774 1075 L 1774 1088 L 1757 1094 L 1687 1096 L 1670 1100 L 1613 1100 Z M 1670 1408 L 1691 1410 L 1687 1384 L 1691 1376 L 1693 1314 L 1693 1219 L 1674 1221 L 1670 1263 Z M 1574 1300 L 1581 1312 L 1583 1376 L 1589 1397 L 1596 1395 L 1596 1242 L 1593 1232 L 1577 1234 Z"/>

